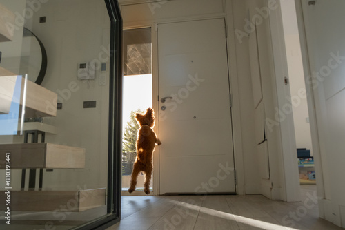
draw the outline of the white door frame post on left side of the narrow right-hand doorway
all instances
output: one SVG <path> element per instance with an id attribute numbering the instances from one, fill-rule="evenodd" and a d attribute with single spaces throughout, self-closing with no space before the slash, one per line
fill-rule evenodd
<path id="1" fill-rule="evenodd" d="M 291 104 L 287 100 L 287 98 L 291 98 L 291 95 L 290 86 L 285 83 L 285 78 L 288 79 L 288 65 L 280 4 L 277 9 L 270 12 L 269 20 L 275 70 L 274 81 L 277 89 L 277 109 L 284 112 L 284 107 Z M 300 189 L 293 113 L 286 112 L 284 115 L 286 118 L 279 122 L 280 138 L 277 138 L 277 140 L 281 140 L 281 143 L 277 143 L 277 145 L 282 148 L 283 165 L 280 198 L 287 202 L 296 202 L 300 200 Z"/>

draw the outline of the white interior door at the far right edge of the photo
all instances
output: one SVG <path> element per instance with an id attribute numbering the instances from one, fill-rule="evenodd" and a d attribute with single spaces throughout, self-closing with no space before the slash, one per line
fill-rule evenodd
<path id="1" fill-rule="evenodd" d="M 345 227 L 345 1 L 302 0 L 306 41 L 319 136 L 322 174 L 317 186 L 324 194 L 320 212 L 326 220 Z"/>

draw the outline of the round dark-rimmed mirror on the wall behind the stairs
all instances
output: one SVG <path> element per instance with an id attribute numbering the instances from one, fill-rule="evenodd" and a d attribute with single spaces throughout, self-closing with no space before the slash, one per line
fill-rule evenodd
<path id="1" fill-rule="evenodd" d="M 24 28 L 19 74 L 28 74 L 28 80 L 41 85 L 46 70 L 47 53 L 43 43 L 28 28 Z"/>

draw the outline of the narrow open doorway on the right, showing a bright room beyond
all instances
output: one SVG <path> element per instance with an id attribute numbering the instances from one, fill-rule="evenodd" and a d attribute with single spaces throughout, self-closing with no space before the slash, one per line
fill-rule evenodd
<path id="1" fill-rule="evenodd" d="M 299 168 L 299 182 L 303 191 L 316 191 L 314 154 L 309 123 L 306 84 L 302 63 L 302 51 L 294 1 L 282 2 L 282 19 L 288 76 L 290 85 L 290 103 L 292 105 L 296 140 L 296 160 Z M 302 196 L 303 199 L 303 196 Z M 303 201 L 303 200 L 302 200 Z"/>

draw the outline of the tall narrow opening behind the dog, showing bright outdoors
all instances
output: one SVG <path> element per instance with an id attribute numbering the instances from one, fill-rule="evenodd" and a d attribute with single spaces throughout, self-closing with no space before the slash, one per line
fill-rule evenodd
<path id="1" fill-rule="evenodd" d="M 151 28 L 124 30 L 124 87 L 122 98 L 122 194 L 128 194 L 130 175 L 137 156 L 135 142 L 139 125 L 135 113 L 152 107 Z M 144 195 L 144 174 L 139 174 L 137 191 Z M 151 180 L 152 181 L 152 180 Z M 152 191 L 152 185 L 150 187 Z"/>

